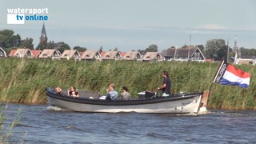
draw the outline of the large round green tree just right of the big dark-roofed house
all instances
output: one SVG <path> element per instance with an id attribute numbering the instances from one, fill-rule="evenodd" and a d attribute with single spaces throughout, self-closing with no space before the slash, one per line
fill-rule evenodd
<path id="1" fill-rule="evenodd" d="M 206 42 L 206 58 L 214 58 L 214 60 L 222 59 L 222 52 L 224 49 L 221 49 L 225 45 L 225 40 L 223 39 L 211 39 Z"/>

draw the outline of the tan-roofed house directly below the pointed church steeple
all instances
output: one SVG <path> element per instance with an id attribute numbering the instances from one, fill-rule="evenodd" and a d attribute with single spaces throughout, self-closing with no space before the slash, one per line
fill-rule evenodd
<path id="1" fill-rule="evenodd" d="M 39 54 L 38 58 L 52 58 L 54 60 L 60 59 L 61 55 L 61 52 L 59 52 L 58 50 L 44 49 L 42 50 L 42 53 Z"/>

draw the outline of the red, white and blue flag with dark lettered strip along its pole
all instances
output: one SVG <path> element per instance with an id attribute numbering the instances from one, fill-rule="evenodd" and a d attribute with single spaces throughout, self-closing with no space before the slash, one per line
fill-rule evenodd
<path id="1" fill-rule="evenodd" d="M 231 64 L 222 62 L 214 81 L 221 85 L 240 86 L 247 88 L 250 84 L 250 73 L 243 72 Z"/>

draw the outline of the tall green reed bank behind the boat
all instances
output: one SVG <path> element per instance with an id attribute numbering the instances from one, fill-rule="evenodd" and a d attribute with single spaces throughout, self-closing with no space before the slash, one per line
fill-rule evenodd
<path id="1" fill-rule="evenodd" d="M 209 90 L 219 63 L 198 62 L 75 62 L 50 59 L 0 59 L 0 98 L 2 102 L 46 103 L 45 88 L 76 86 L 105 94 L 110 82 L 120 92 L 128 86 L 136 95 L 142 90 L 155 90 L 162 84 L 160 74 L 168 70 L 172 92 Z M 218 109 L 256 110 L 255 66 L 238 68 L 251 74 L 250 86 L 212 87 L 209 106 Z"/>

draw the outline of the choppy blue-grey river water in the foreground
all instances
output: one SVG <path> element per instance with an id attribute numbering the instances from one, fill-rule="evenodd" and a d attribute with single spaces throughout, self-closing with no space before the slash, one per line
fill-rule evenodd
<path id="1" fill-rule="evenodd" d="M 21 115 L 18 117 L 18 111 Z M 256 112 L 77 113 L 47 105 L 2 104 L 10 143 L 256 143 Z"/>

